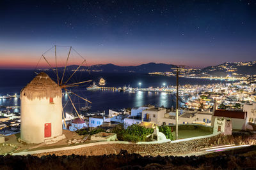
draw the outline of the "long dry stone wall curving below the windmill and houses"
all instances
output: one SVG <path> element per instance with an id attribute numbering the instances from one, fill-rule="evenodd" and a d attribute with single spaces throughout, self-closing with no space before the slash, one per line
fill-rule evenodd
<path id="1" fill-rule="evenodd" d="M 108 144 L 88 146 L 75 150 L 63 150 L 58 152 L 47 152 L 34 154 L 41 157 L 43 155 L 55 154 L 61 155 L 109 155 L 118 154 L 121 150 L 126 150 L 128 153 L 138 153 L 142 156 L 165 156 L 165 155 L 186 155 L 200 152 L 200 148 L 220 145 L 256 145 L 256 134 L 249 136 L 237 134 L 233 136 L 213 136 L 211 138 L 194 139 L 191 141 L 182 141 L 179 143 L 161 143 L 161 144 Z"/>

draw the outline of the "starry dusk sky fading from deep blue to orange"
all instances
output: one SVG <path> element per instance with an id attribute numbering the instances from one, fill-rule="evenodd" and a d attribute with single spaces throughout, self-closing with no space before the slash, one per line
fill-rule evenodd
<path id="1" fill-rule="evenodd" d="M 0 1 L 0 68 L 35 67 L 52 45 L 88 64 L 205 67 L 256 60 L 256 1 Z"/>

